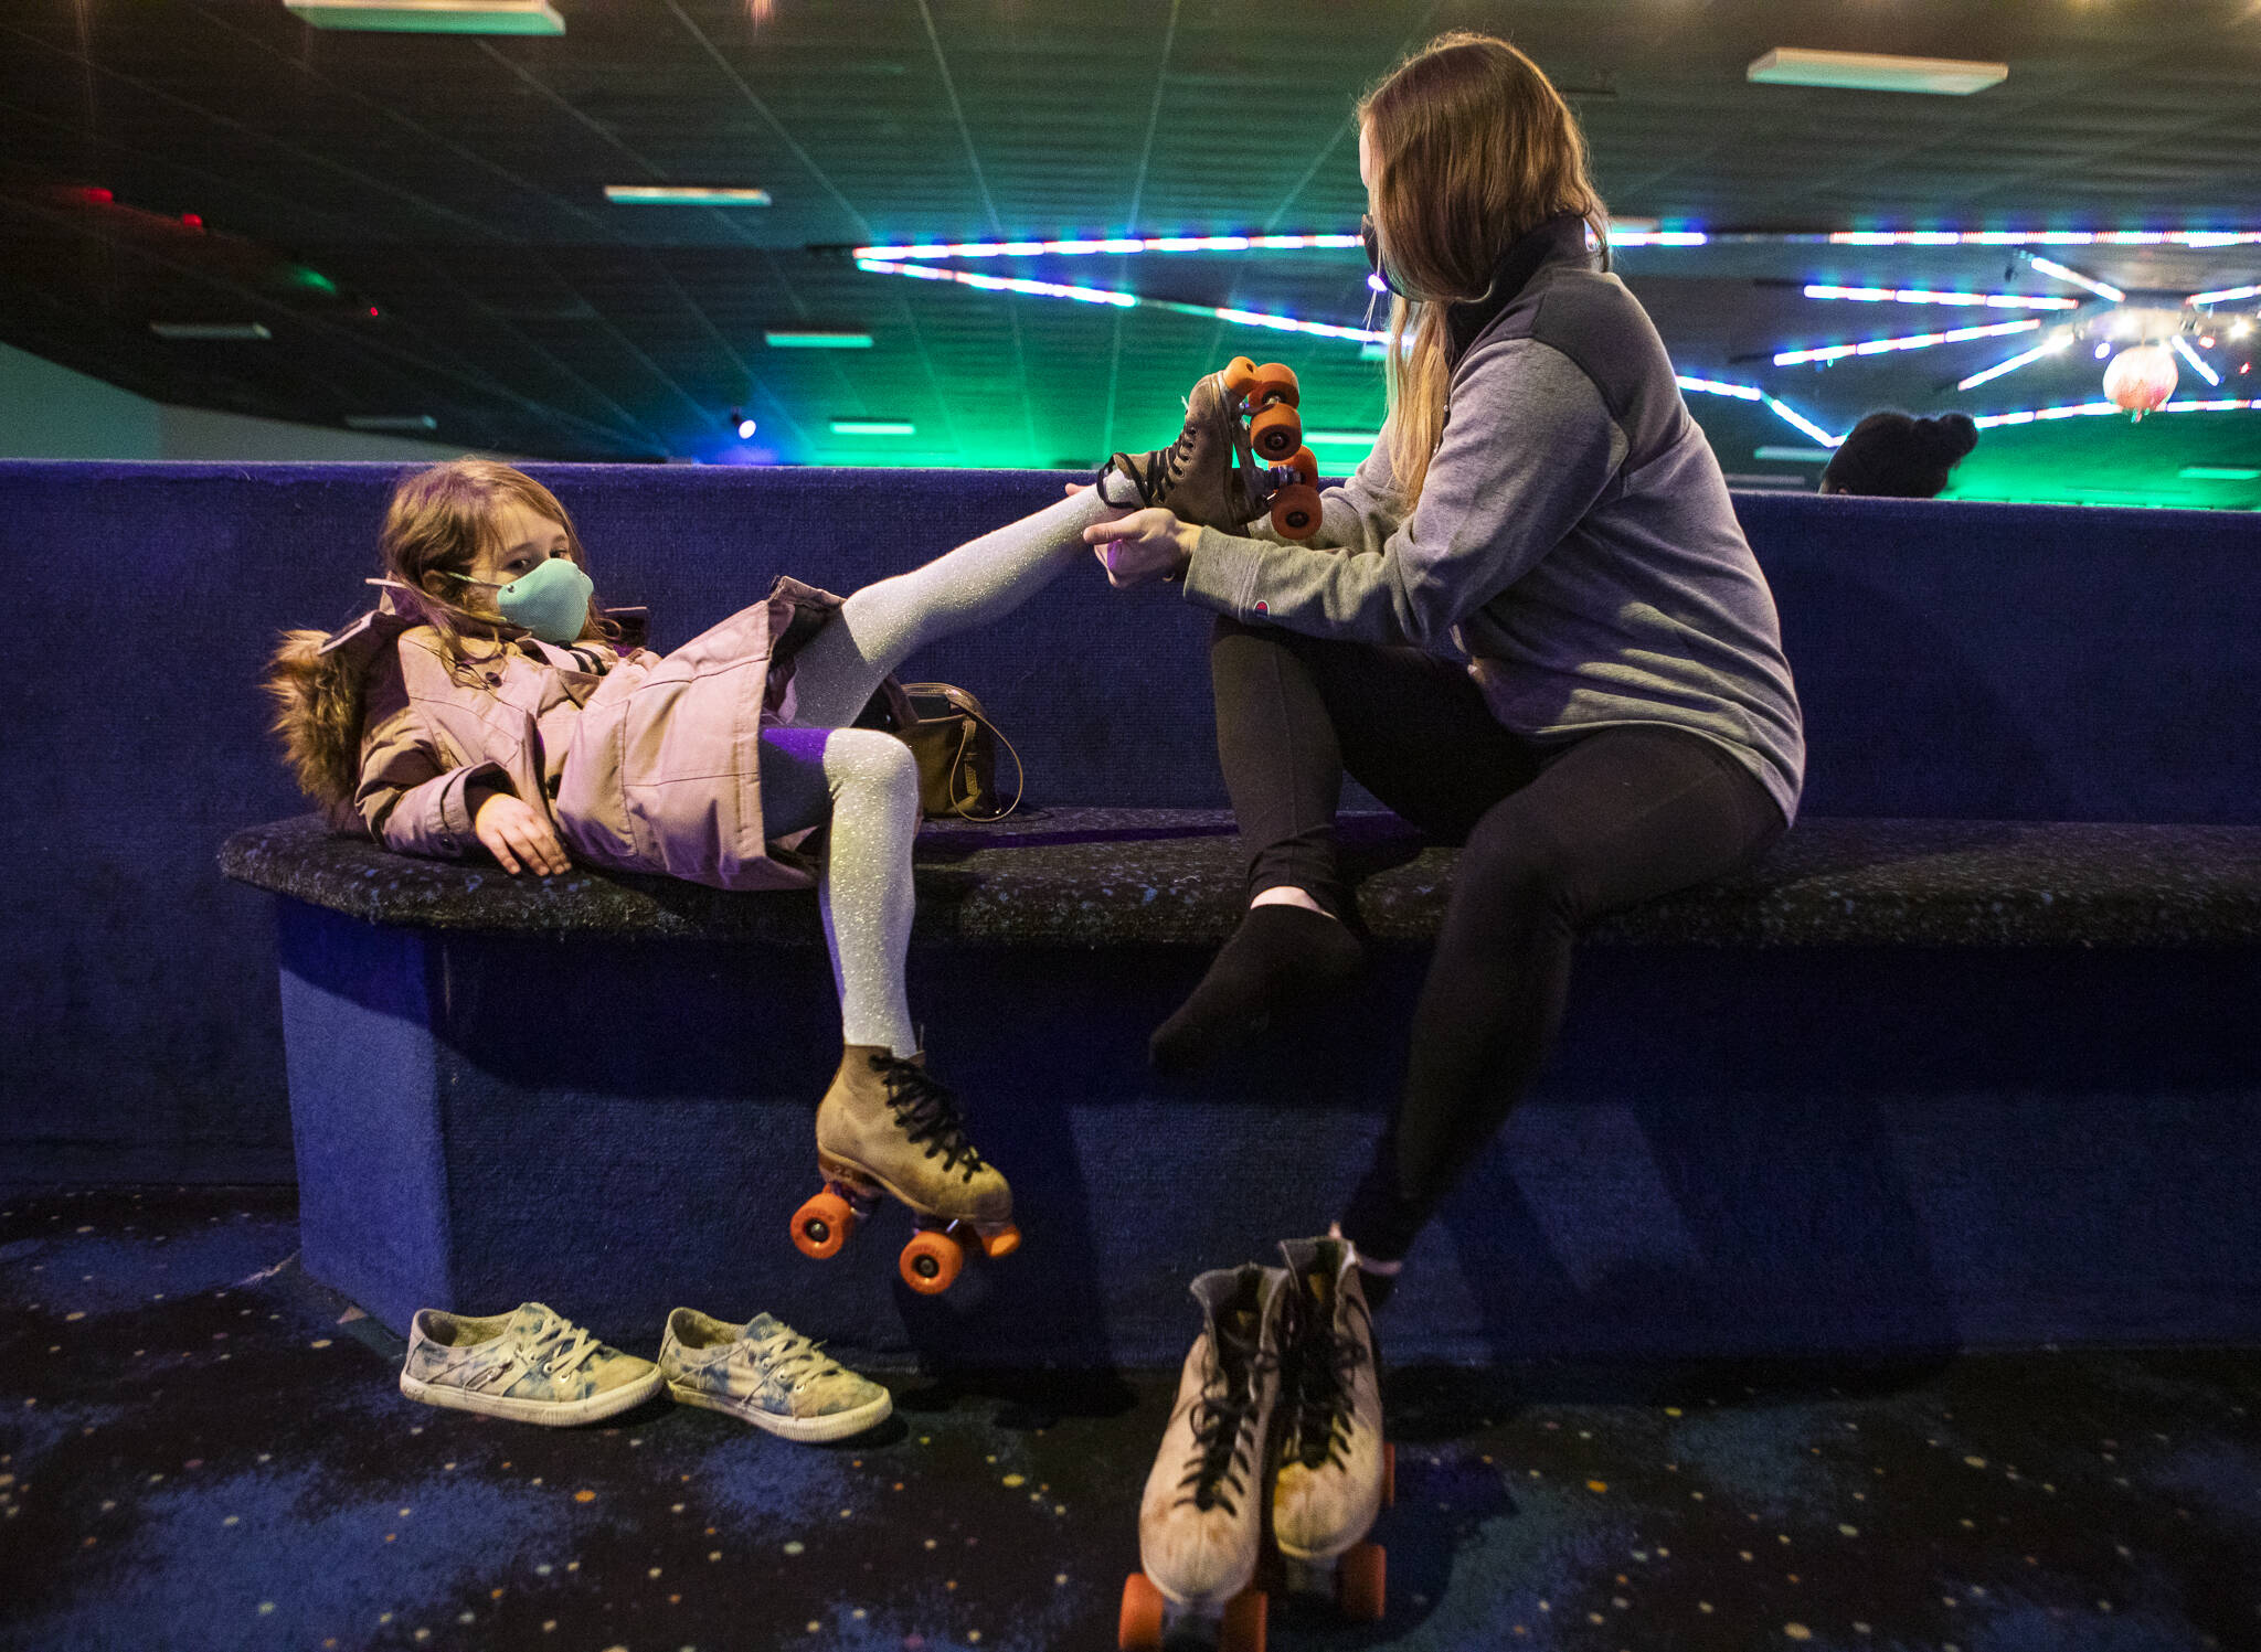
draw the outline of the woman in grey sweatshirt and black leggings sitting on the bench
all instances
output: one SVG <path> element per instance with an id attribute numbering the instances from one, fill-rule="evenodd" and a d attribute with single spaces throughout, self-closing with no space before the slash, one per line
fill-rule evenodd
<path id="1" fill-rule="evenodd" d="M 1232 432 L 1194 423 L 1110 461 L 1106 497 L 1160 508 L 1085 538 L 1112 583 L 1183 579 L 1219 615 L 1250 904 L 1153 1035 L 1160 1067 L 1359 970 L 1345 768 L 1465 843 L 1404 1092 L 1341 1218 L 1379 1297 L 1537 1071 L 1578 929 L 1759 854 L 1797 807 L 1804 741 L 1773 594 L 1664 344 L 1605 273 L 1556 88 L 1506 41 L 1447 34 L 1359 108 L 1359 176 L 1397 294 L 1391 414 L 1316 538 L 1246 538 L 1253 511 L 1180 520 L 1176 502 L 1232 497 Z"/>

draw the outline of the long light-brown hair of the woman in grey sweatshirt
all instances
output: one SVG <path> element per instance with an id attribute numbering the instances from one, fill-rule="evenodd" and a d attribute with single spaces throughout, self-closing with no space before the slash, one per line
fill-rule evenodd
<path id="1" fill-rule="evenodd" d="M 1483 298 L 1517 240 L 1560 212 L 1608 246 L 1585 133 L 1528 56 L 1488 34 L 1440 34 L 1359 102 L 1375 228 L 1391 276 L 1388 454 L 1406 508 L 1445 432 L 1445 310 Z M 1411 346 L 1406 337 L 1411 334 Z"/>

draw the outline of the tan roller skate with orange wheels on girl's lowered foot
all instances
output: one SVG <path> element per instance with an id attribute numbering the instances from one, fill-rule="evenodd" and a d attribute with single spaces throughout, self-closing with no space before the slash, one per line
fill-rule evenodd
<path id="1" fill-rule="evenodd" d="M 841 1053 L 816 1105 L 816 1168 L 825 1191 L 794 1211 L 794 1243 L 809 1257 L 839 1254 L 882 1193 L 918 1220 L 898 1268 L 920 1295 L 947 1290 L 968 1247 L 984 1257 L 1020 1247 L 1013 1189 L 965 1139 L 959 1101 L 925 1055 L 900 1060 L 870 1044 Z"/>

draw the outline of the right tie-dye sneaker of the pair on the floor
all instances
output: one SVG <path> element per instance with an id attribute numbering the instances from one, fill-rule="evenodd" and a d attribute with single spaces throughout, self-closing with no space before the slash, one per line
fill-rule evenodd
<path id="1" fill-rule="evenodd" d="M 766 1313 L 730 1324 L 676 1308 L 660 1342 L 660 1374 L 685 1406 L 721 1410 L 787 1440 L 846 1440 L 895 1410 L 893 1394 Z"/>

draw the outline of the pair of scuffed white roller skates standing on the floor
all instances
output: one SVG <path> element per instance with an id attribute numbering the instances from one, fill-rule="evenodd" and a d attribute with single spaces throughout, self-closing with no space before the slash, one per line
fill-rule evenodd
<path id="1" fill-rule="evenodd" d="M 1273 1593 L 1381 1618 L 1386 1562 L 1366 1534 L 1393 1501 L 1395 1453 L 1357 1254 L 1341 1238 L 1280 1254 L 1284 1268 L 1194 1279 L 1205 1327 L 1146 1476 L 1121 1652 L 1185 1638 L 1264 1652 Z"/>

